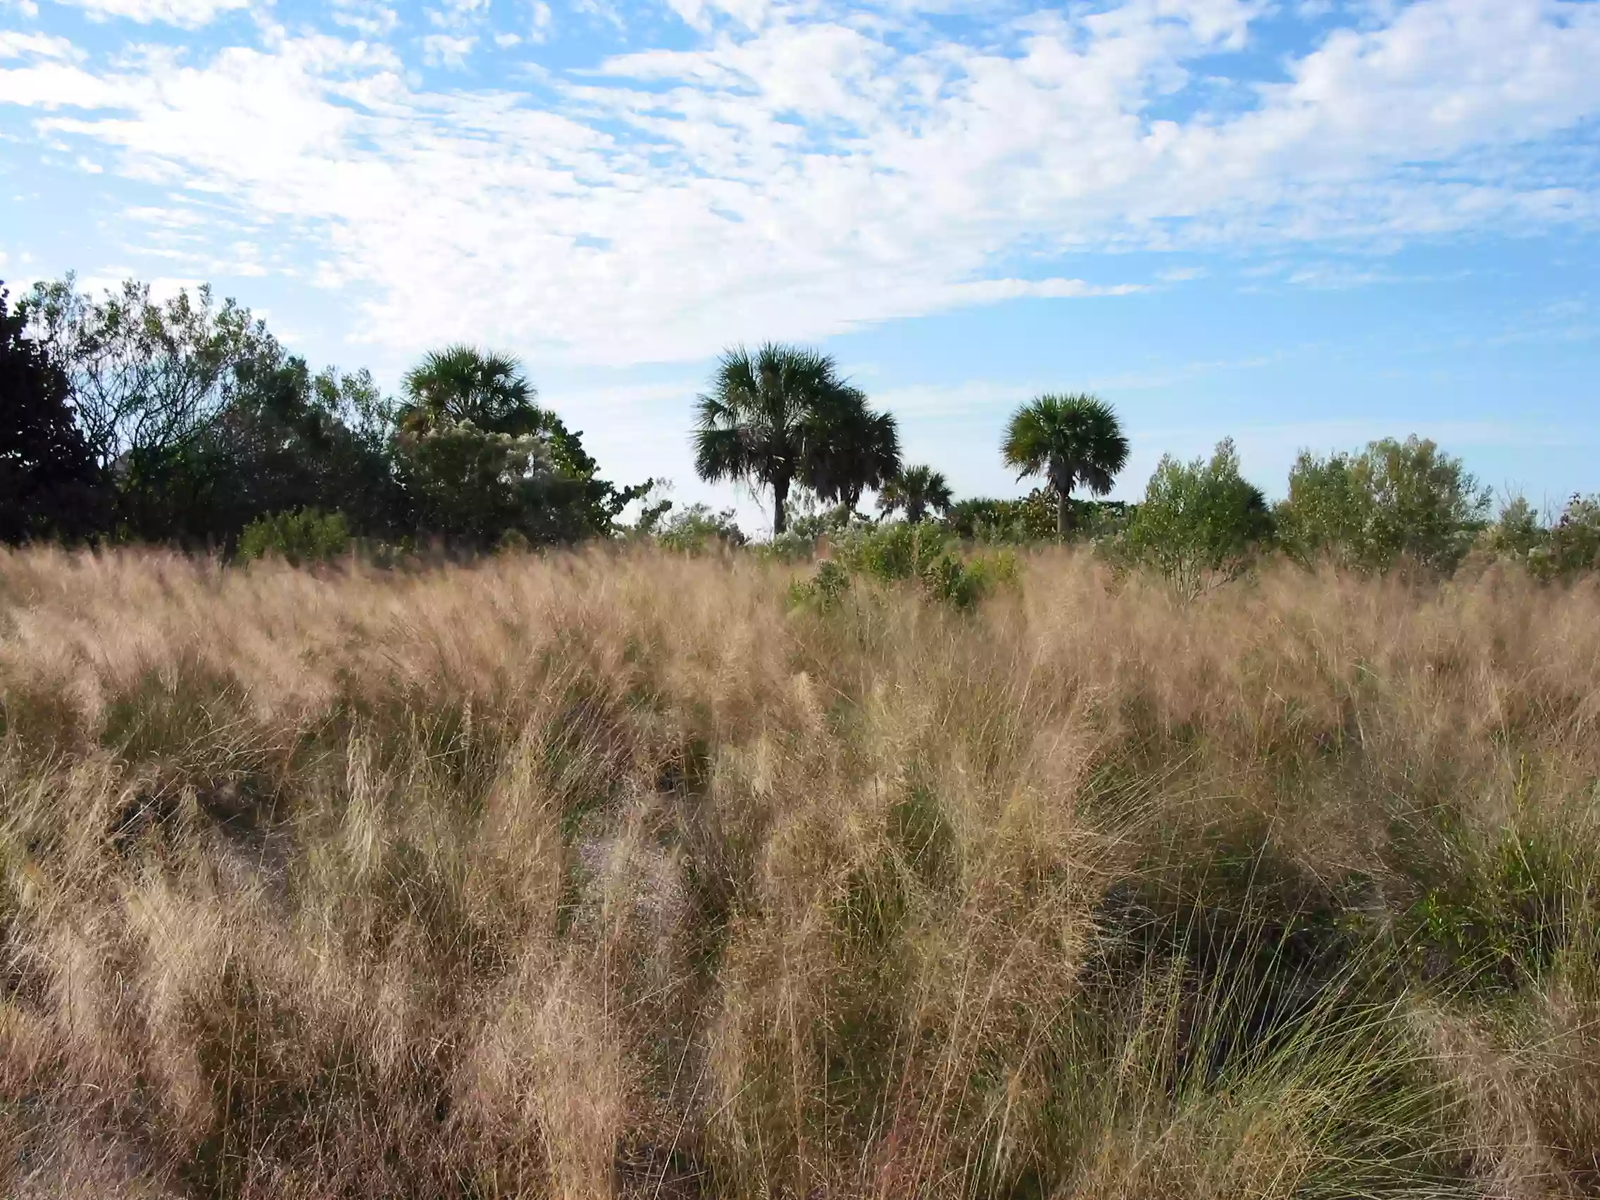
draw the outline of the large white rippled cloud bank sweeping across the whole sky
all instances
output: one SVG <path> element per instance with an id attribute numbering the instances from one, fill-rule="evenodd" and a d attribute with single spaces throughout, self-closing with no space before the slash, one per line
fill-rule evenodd
<path id="1" fill-rule="evenodd" d="M 1413 0 L 1302 48 L 1243 112 L 1186 88 L 1197 59 L 1248 43 L 1266 0 L 997 14 L 982 45 L 909 5 L 822 3 L 675 0 L 709 30 L 696 48 L 546 74 L 538 101 L 424 91 L 382 46 L 280 34 L 93 69 L 29 51 L 0 70 L 0 102 L 309 246 L 309 274 L 365 298 L 381 342 L 616 363 L 1133 290 L 1022 278 L 1062 251 L 1600 216 L 1589 168 L 1550 141 L 1600 114 L 1595 3 Z M 533 11 L 538 34 L 549 10 Z M 422 38 L 454 66 L 474 45 Z"/>

